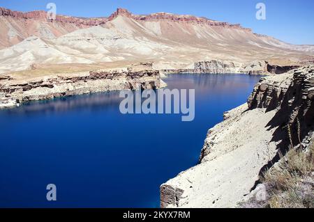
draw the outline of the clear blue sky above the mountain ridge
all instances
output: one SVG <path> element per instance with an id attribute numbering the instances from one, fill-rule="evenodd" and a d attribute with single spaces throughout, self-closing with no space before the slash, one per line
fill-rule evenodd
<path id="1" fill-rule="evenodd" d="M 57 4 L 57 14 L 79 17 L 104 17 L 116 8 L 127 8 L 134 14 L 167 12 L 204 16 L 240 23 L 255 33 L 285 42 L 314 45 L 313 0 L 0 0 L 0 6 L 20 11 L 46 10 L 49 2 Z M 259 2 L 266 5 L 266 20 L 255 18 Z"/>

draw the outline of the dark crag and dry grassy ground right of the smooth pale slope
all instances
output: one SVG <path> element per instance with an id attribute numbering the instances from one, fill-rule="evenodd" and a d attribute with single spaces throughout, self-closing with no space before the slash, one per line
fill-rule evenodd
<path id="1" fill-rule="evenodd" d="M 295 70 L 282 82 L 263 79 L 248 106 L 278 109 L 268 125 L 278 126 L 273 138 L 281 141 L 278 154 L 262 168 L 257 186 L 239 207 L 313 208 L 314 67 Z"/>

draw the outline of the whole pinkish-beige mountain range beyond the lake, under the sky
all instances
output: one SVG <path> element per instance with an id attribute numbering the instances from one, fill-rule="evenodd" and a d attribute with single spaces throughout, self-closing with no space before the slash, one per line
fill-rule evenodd
<path id="1" fill-rule="evenodd" d="M 192 15 L 133 15 L 119 8 L 107 18 L 58 15 L 48 21 L 44 11 L 0 8 L 0 21 L 0 72 L 24 70 L 33 63 L 153 61 L 157 69 L 178 69 L 210 59 L 239 64 L 314 59 L 313 45 L 291 45 L 239 24 Z"/>

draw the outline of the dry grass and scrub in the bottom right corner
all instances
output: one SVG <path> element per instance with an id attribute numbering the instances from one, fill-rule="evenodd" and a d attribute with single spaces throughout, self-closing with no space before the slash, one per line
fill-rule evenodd
<path id="1" fill-rule="evenodd" d="M 290 149 L 278 165 L 264 175 L 271 208 L 314 207 L 314 144 L 307 150 Z"/>

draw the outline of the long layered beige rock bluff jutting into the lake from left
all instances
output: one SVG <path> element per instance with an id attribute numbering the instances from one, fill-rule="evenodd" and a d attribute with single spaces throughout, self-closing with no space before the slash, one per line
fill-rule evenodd
<path id="1" fill-rule="evenodd" d="M 53 97 L 80 95 L 109 90 L 155 89 L 165 86 L 156 70 L 137 72 L 91 71 L 85 74 L 68 74 L 23 81 L 0 81 L 0 102 L 5 106 L 31 100 L 48 100 Z"/>

